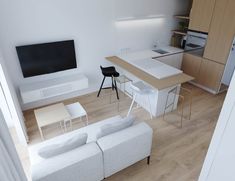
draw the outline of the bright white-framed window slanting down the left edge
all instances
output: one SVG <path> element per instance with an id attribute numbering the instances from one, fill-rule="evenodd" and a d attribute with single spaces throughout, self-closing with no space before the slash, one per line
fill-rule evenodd
<path id="1" fill-rule="evenodd" d="M 13 87 L 12 90 L 9 87 L 10 83 L 10 80 L 7 79 L 4 69 L 0 64 L 0 110 L 3 112 L 3 117 L 6 120 L 23 167 L 25 170 L 28 170 L 28 136 L 26 134 L 21 107 L 19 106 L 16 95 L 14 95 L 15 90 Z"/>

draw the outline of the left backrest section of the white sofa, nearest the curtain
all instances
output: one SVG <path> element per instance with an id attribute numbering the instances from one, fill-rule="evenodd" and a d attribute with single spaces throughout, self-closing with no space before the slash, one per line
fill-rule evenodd
<path id="1" fill-rule="evenodd" d="M 102 152 L 89 143 L 32 166 L 33 181 L 99 181 L 104 178 Z"/>

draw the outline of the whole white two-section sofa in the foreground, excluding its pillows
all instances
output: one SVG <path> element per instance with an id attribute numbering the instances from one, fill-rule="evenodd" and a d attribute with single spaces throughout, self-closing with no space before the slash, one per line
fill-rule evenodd
<path id="1" fill-rule="evenodd" d="M 150 157 L 153 131 L 144 122 L 135 121 L 132 126 L 97 140 L 101 126 L 120 120 L 120 116 L 115 116 L 30 147 L 32 180 L 100 181 Z M 78 133 L 88 134 L 85 145 L 47 159 L 38 155 L 40 148 Z"/>

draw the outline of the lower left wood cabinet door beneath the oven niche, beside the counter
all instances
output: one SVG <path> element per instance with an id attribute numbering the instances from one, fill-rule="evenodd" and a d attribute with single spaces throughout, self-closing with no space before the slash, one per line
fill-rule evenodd
<path id="1" fill-rule="evenodd" d="M 199 71 L 201 67 L 202 57 L 185 53 L 182 61 L 182 70 L 184 73 L 195 78 L 198 81 Z"/>

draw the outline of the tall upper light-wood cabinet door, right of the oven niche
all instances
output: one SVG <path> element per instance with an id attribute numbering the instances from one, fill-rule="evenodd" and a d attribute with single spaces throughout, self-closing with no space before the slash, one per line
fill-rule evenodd
<path id="1" fill-rule="evenodd" d="M 235 36 L 235 0 L 216 0 L 204 57 L 226 64 Z"/>

